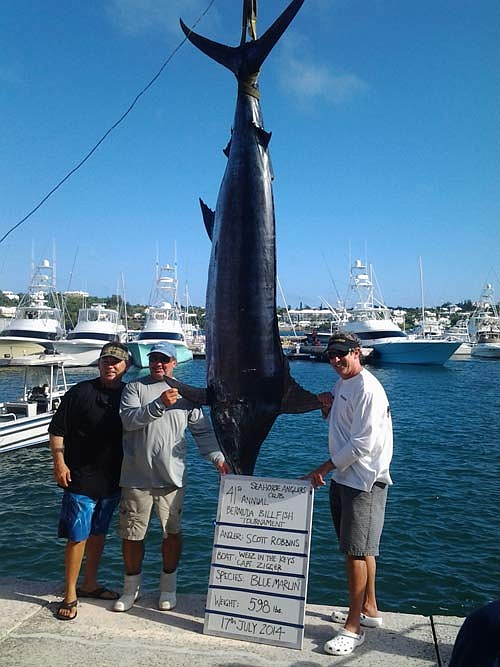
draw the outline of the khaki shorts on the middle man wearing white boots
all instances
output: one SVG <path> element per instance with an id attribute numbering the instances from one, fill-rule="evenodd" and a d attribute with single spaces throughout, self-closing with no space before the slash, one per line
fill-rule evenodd
<path id="1" fill-rule="evenodd" d="M 122 489 L 118 535 L 123 540 L 143 540 L 153 506 L 160 519 L 163 537 L 181 532 L 185 488 Z"/>

